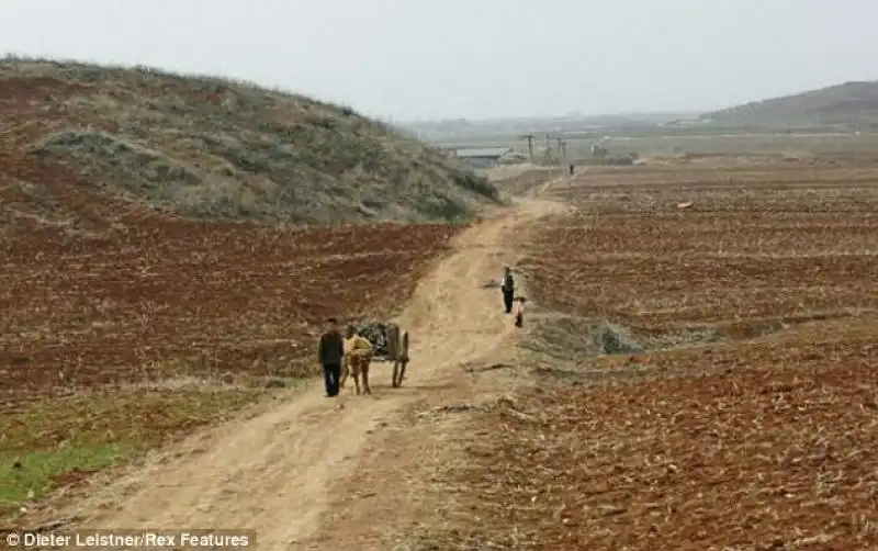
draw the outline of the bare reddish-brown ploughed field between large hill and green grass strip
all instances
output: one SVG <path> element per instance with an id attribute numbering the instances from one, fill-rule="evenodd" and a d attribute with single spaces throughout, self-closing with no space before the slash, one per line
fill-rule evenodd
<path id="1" fill-rule="evenodd" d="M 90 236 L 16 232 L 0 272 L 0 403 L 167 376 L 301 374 L 322 319 L 389 313 L 457 229 L 150 218 Z"/>

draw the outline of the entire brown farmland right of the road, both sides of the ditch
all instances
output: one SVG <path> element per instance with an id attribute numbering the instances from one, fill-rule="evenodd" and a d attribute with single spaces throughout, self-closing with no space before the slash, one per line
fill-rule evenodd
<path id="1" fill-rule="evenodd" d="M 878 170 L 548 194 L 578 212 L 519 265 L 534 384 L 446 445 L 466 451 L 416 549 L 878 549 Z"/>

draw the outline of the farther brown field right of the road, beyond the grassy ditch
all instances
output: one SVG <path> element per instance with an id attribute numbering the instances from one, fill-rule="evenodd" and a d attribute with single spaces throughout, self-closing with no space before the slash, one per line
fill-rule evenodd
<path id="1" fill-rule="evenodd" d="M 595 172 L 553 190 L 581 210 L 525 262 L 548 308 L 662 330 L 878 308 L 874 169 Z"/>

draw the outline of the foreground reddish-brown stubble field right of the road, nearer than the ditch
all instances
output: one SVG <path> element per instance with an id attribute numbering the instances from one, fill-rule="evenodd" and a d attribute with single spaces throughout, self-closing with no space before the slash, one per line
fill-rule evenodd
<path id="1" fill-rule="evenodd" d="M 642 358 L 654 376 L 552 385 L 516 403 L 525 416 L 474 419 L 447 486 L 482 519 L 462 547 L 875 549 L 875 327 Z"/>

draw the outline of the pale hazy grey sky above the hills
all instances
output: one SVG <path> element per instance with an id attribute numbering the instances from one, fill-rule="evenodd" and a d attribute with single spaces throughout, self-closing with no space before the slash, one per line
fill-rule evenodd
<path id="1" fill-rule="evenodd" d="M 875 0 L 0 0 L 0 50 L 394 121 L 709 110 L 878 79 Z"/>

